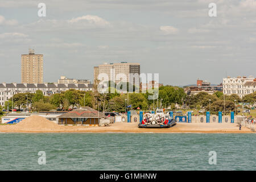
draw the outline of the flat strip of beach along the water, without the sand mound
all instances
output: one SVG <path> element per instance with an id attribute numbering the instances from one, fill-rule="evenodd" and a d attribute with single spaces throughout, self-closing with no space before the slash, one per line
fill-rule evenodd
<path id="1" fill-rule="evenodd" d="M 0 126 L 0 133 L 197 133 L 233 134 L 255 133 L 246 127 L 239 130 L 237 123 L 177 123 L 168 129 L 138 128 L 138 123 L 113 123 L 110 126 L 59 126 L 56 128 L 20 128 Z"/>

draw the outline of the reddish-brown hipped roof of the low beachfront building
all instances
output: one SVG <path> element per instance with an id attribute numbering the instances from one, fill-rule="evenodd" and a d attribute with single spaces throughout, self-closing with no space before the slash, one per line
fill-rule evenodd
<path id="1" fill-rule="evenodd" d="M 98 118 L 98 116 L 100 116 L 100 118 L 105 117 L 103 113 L 100 112 L 99 114 L 97 110 L 85 106 L 62 114 L 59 118 Z"/>

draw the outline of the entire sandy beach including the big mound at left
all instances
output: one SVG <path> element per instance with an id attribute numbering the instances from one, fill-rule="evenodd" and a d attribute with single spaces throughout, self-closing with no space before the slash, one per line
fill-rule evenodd
<path id="1" fill-rule="evenodd" d="M 6 133 L 253 133 L 237 123 L 177 123 L 168 129 L 138 128 L 138 123 L 113 123 L 110 126 L 61 126 L 42 117 L 30 117 L 16 125 L 1 125 Z"/>

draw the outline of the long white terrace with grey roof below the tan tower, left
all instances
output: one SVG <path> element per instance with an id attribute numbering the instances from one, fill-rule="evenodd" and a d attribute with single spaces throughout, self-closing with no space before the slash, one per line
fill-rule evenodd
<path id="1" fill-rule="evenodd" d="M 75 89 L 81 91 L 92 91 L 92 84 L 0 84 L 0 105 L 4 106 L 16 93 L 35 93 L 36 90 L 42 90 L 44 96 L 61 93 L 63 91 Z"/>

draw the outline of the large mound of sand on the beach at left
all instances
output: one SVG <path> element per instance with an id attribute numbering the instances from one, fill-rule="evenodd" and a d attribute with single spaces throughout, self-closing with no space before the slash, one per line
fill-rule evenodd
<path id="1" fill-rule="evenodd" d="M 23 119 L 15 126 L 16 129 L 59 129 L 59 125 L 49 121 L 46 118 L 39 115 L 31 115 L 30 117 Z"/>

